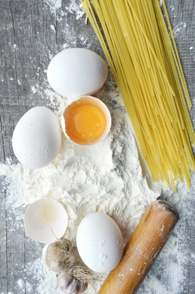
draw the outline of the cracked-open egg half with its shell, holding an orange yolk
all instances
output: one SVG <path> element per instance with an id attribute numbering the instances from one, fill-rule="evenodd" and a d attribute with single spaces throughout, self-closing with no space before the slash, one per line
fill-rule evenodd
<path id="1" fill-rule="evenodd" d="M 107 106 L 92 96 L 81 96 L 66 106 L 62 115 L 62 129 L 67 138 L 81 146 L 101 142 L 111 127 Z"/>

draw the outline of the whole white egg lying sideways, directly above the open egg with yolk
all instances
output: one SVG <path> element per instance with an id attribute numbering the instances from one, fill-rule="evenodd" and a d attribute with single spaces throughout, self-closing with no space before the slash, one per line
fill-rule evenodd
<path id="1" fill-rule="evenodd" d="M 51 59 L 47 74 L 54 91 L 67 98 L 77 98 L 96 93 L 105 83 L 108 68 L 97 53 L 70 48 Z"/>

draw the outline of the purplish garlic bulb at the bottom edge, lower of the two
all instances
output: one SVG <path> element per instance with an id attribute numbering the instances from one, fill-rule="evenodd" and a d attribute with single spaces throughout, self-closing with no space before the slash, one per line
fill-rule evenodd
<path id="1" fill-rule="evenodd" d="M 77 280 L 71 271 L 63 271 L 59 275 L 58 288 L 66 294 L 81 294 L 87 287 L 88 284 Z"/>

